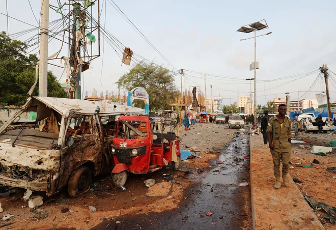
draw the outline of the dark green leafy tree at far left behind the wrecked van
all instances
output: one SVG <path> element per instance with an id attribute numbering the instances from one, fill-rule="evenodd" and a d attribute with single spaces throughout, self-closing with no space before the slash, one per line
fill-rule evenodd
<path id="1" fill-rule="evenodd" d="M 0 105 L 23 105 L 35 82 L 35 66 L 39 59 L 28 54 L 27 45 L 0 33 Z M 38 84 L 32 94 L 38 96 Z M 48 97 L 67 97 L 57 78 L 48 71 Z"/>

